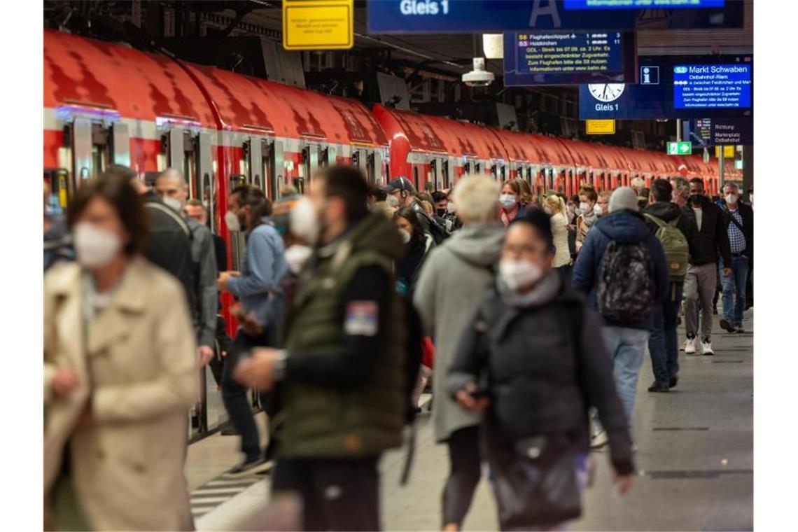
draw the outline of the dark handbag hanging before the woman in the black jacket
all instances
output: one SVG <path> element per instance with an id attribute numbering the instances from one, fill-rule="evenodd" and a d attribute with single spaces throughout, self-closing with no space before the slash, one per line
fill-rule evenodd
<path id="1" fill-rule="evenodd" d="M 494 467 L 502 528 L 552 527 L 579 518 L 579 455 L 571 439 L 566 435 L 531 436 L 516 440 L 512 451 L 512 457 Z"/>

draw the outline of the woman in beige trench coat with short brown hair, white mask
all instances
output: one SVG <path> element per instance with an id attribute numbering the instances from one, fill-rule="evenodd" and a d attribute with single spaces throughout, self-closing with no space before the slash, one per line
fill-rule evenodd
<path id="1" fill-rule="evenodd" d="M 68 221 L 77 263 L 45 275 L 45 527 L 191 530 L 184 291 L 141 257 L 147 218 L 126 179 L 85 184 Z"/>

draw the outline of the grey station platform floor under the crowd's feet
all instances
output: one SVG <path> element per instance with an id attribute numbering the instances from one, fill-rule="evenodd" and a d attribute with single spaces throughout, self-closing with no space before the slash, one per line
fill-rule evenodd
<path id="1" fill-rule="evenodd" d="M 606 451 L 596 451 L 595 482 L 583 497 L 583 517 L 571 523 L 571 530 L 753 530 L 753 333 L 725 333 L 716 318 L 715 356 L 681 352 L 679 384 L 670 393 L 647 392 L 653 377 L 650 359 L 644 358 L 634 419 L 638 478 L 621 497 L 610 484 Z M 744 327 L 753 331 L 753 309 Z M 258 422 L 263 431 L 263 414 Z M 390 452 L 381 462 L 385 530 L 440 530 L 448 458 L 433 439 L 429 415 L 421 415 L 417 431 L 408 485 L 399 486 L 402 452 Z M 241 459 L 238 445 L 237 436 L 213 435 L 189 447 L 187 476 L 197 530 L 243 530 L 267 503 L 268 475 L 223 475 Z M 497 526 L 496 506 L 483 479 L 464 529 Z"/>

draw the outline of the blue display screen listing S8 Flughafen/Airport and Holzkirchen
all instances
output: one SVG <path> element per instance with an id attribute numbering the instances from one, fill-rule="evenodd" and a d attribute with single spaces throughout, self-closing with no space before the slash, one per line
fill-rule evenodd
<path id="1" fill-rule="evenodd" d="M 634 37 L 601 30 L 504 33 L 504 50 L 507 86 L 624 81 Z"/>

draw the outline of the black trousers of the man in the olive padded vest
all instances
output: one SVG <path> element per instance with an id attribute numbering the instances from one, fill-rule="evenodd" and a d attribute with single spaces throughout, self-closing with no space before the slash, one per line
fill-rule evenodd
<path id="1" fill-rule="evenodd" d="M 302 499 L 302 530 L 380 530 L 379 457 L 278 459 L 271 493 Z"/>

